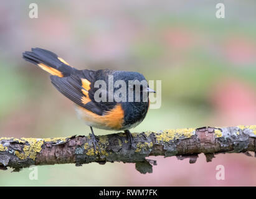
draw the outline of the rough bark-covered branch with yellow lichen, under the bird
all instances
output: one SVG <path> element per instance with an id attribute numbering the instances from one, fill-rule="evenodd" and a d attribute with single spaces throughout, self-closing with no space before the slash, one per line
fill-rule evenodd
<path id="1" fill-rule="evenodd" d="M 74 163 L 77 166 L 90 162 L 128 162 L 142 174 L 152 172 L 155 160 L 148 156 L 176 155 L 189 157 L 194 163 L 198 154 L 204 153 L 207 162 L 214 154 L 256 150 L 256 125 L 235 127 L 201 127 L 164 131 L 133 133 L 130 146 L 126 134 L 98 136 L 101 152 L 94 151 L 90 136 L 55 137 L 47 139 L 1 137 L 0 169 L 7 167 L 19 171 L 31 165 Z"/>

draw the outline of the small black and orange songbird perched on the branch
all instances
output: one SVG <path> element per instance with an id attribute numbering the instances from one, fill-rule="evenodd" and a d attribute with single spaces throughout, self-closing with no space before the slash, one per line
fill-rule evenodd
<path id="1" fill-rule="evenodd" d="M 139 85 L 140 99 L 116 101 L 116 99 L 107 101 L 95 100 L 95 94 L 99 89 L 95 86 L 98 80 L 103 80 L 108 84 L 109 76 L 113 76 L 113 83 L 122 80 L 126 83 L 125 91 L 128 97 L 129 90 L 138 88 L 136 83 L 145 80 L 145 77 L 137 72 L 126 72 L 120 70 L 77 70 L 65 62 L 64 59 L 58 57 L 55 53 L 49 50 L 35 48 L 31 52 L 24 52 L 23 58 L 28 62 L 34 63 L 46 72 L 50 73 L 52 84 L 64 96 L 75 103 L 78 117 L 85 121 L 85 124 L 90 126 L 94 149 L 98 145 L 98 139 L 95 137 L 92 127 L 99 129 L 125 131 L 130 144 L 133 142 L 133 136 L 129 129 L 140 124 L 146 116 L 149 107 L 149 100 L 143 99 L 143 94 L 155 91 L 151 90 L 148 85 Z M 138 80 L 135 85 L 130 86 L 130 80 Z M 145 80 L 146 81 L 146 80 Z M 103 88 L 102 88 L 103 89 Z M 114 88 L 113 91 L 116 91 Z M 102 91 L 108 96 L 110 88 L 105 88 Z M 135 97 L 133 96 L 133 99 Z"/>

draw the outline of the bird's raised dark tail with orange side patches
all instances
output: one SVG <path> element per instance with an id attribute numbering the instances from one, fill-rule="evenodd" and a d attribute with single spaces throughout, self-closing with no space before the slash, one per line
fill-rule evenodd
<path id="1" fill-rule="evenodd" d="M 69 76 L 75 68 L 70 67 L 69 63 L 58 57 L 55 53 L 44 49 L 31 49 L 32 51 L 24 52 L 23 58 L 31 63 L 38 65 L 40 68 L 60 77 Z"/>

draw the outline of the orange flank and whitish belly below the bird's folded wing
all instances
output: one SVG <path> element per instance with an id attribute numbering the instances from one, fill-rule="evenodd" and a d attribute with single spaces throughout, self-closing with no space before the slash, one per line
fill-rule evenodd
<path id="1" fill-rule="evenodd" d="M 119 130 L 123 127 L 125 112 L 121 108 L 121 104 L 117 104 L 115 108 L 102 116 L 92 113 L 81 106 L 78 106 L 78 108 L 80 109 L 78 113 L 80 114 L 81 118 L 89 125 L 99 127 L 101 129 L 115 130 Z"/>

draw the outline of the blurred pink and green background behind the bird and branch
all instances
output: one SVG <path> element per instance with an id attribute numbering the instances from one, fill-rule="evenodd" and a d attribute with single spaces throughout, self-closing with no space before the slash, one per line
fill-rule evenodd
<path id="1" fill-rule="evenodd" d="M 38 5 L 37 19 L 29 4 Z M 225 19 L 216 18 L 216 4 Z M 49 75 L 22 59 L 41 47 L 78 69 L 110 68 L 143 73 L 162 81 L 162 106 L 149 109 L 132 129 L 176 129 L 256 124 L 255 1 L 1 1 L 0 137 L 59 137 L 86 134 L 69 99 Z M 110 131 L 95 129 L 95 134 Z M 134 164 L 96 163 L 0 170 L 1 186 L 250 186 L 256 160 L 244 154 L 216 155 L 196 164 L 176 157 L 158 160 L 153 174 Z M 225 180 L 216 180 L 224 165 Z"/>

